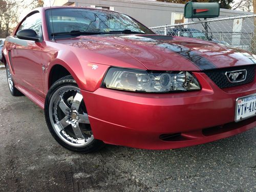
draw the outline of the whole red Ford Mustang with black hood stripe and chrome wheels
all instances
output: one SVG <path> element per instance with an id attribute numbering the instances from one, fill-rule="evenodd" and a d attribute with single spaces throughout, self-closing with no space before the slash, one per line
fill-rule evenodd
<path id="1" fill-rule="evenodd" d="M 75 152 L 178 148 L 256 126 L 256 55 L 156 35 L 121 13 L 36 9 L 2 55 L 11 94 L 44 109 L 52 136 Z"/>

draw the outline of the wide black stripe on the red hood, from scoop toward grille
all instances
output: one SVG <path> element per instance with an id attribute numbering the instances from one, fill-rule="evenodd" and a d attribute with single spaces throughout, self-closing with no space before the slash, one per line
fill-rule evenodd
<path id="1" fill-rule="evenodd" d="M 158 44 L 158 46 L 173 51 L 181 55 L 182 57 L 190 60 L 201 70 L 210 70 L 217 68 L 214 63 L 203 57 L 199 51 L 190 50 L 189 48 L 177 44 L 168 44 L 167 42 Z"/>

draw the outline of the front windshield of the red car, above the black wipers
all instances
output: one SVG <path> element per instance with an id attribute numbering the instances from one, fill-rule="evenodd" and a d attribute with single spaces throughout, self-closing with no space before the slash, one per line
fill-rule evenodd
<path id="1" fill-rule="evenodd" d="M 59 8 L 46 11 L 49 37 L 54 34 L 74 35 L 74 32 L 114 33 L 125 31 L 130 33 L 154 34 L 150 29 L 136 22 L 131 17 L 104 10 Z M 72 34 L 67 34 L 73 32 Z"/>

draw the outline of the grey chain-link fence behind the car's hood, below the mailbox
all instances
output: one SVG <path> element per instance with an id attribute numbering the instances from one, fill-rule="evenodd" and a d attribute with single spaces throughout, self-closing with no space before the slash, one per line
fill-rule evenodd
<path id="1" fill-rule="evenodd" d="M 188 23 L 151 27 L 150 29 L 160 35 L 211 40 L 228 47 L 255 53 L 254 19 L 256 19 L 256 14 L 209 20 L 198 19 L 198 21 L 194 19 Z"/>

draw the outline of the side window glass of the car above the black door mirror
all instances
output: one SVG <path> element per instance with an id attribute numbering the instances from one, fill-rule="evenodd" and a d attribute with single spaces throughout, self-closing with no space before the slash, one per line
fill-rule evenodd
<path id="1" fill-rule="evenodd" d="M 18 31 L 22 29 L 33 29 L 38 35 L 42 36 L 40 13 L 34 13 L 27 17 L 19 26 Z"/>

